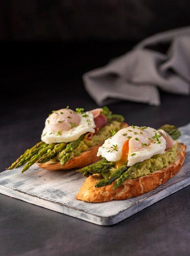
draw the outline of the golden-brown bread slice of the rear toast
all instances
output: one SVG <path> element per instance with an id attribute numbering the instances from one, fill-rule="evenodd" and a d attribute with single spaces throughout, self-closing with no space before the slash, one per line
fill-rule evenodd
<path id="1" fill-rule="evenodd" d="M 128 124 L 125 122 L 122 122 L 120 127 L 123 128 L 124 126 L 128 126 Z M 82 152 L 80 155 L 73 157 L 71 160 L 68 160 L 64 166 L 61 166 L 60 162 L 58 161 L 57 162 L 49 161 L 43 164 L 36 162 L 36 164 L 38 164 L 40 168 L 50 170 L 50 171 L 82 168 L 84 166 L 87 166 L 88 164 L 95 163 L 101 159 L 101 156 L 97 157 L 97 151 L 98 151 L 98 148 L 102 146 L 102 144 L 93 146 L 89 148 L 87 151 Z"/>

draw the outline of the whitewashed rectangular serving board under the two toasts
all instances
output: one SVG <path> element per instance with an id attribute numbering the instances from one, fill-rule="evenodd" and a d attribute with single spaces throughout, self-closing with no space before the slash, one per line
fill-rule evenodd
<path id="1" fill-rule="evenodd" d="M 75 200 L 84 183 L 81 173 L 47 171 L 33 165 L 0 173 L 0 193 L 97 225 L 113 225 L 190 184 L 190 124 L 180 128 L 179 141 L 187 147 L 183 167 L 168 182 L 136 198 L 90 203 Z"/>

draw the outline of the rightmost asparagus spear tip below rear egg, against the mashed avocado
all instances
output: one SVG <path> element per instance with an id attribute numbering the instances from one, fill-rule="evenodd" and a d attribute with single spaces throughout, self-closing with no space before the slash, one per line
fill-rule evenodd
<path id="1" fill-rule="evenodd" d="M 81 135 L 77 140 L 71 141 L 66 145 L 66 148 L 60 153 L 60 164 L 64 166 L 64 164 L 71 158 L 71 153 L 78 146 L 80 141 L 84 138 L 85 134 Z"/>

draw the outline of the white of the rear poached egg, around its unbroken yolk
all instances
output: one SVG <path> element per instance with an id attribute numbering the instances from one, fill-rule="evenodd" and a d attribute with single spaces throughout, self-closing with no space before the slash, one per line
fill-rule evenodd
<path id="1" fill-rule="evenodd" d="M 83 117 L 86 113 L 87 117 Z M 61 142 L 71 142 L 78 139 L 82 134 L 86 132 L 95 132 L 95 122 L 94 116 L 90 112 L 85 112 L 83 114 L 77 113 L 76 115 L 80 116 L 80 123 L 77 127 L 71 128 L 68 131 L 61 131 L 61 132 L 49 132 L 46 125 L 44 130 L 42 131 L 41 140 L 44 141 L 46 144 L 51 143 L 61 143 Z M 46 119 L 47 120 L 47 119 Z M 47 123 L 47 121 L 46 121 Z M 46 124 L 45 123 L 45 124 Z"/>

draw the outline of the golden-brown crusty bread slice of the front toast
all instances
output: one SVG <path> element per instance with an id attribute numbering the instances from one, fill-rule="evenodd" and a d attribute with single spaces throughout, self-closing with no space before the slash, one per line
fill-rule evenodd
<path id="1" fill-rule="evenodd" d="M 125 180 L 117 189 L 113 190 L 113 184 L 96 188 L 95 184 L 101 180 L 98 174 L 89 176 L 80 191 L 75 197 L 77 200 L 87 202 L 106 202 L 110 200 L 124 200 L 127 198 L 142 195 L 164 184 L 173 177 L 183 166 L 186 155 L 186 145 L 179 143 L 177 147 L 177 157 L 173 164 L 150 175 L 146 175 L 134 180 Z"/>

